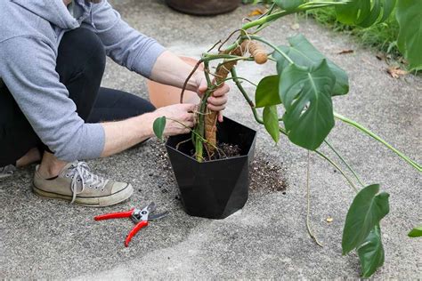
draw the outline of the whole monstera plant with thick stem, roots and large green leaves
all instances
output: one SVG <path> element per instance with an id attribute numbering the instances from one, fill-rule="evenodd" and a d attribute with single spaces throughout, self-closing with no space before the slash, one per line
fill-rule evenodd
<path id="1" fill-rule="evenodd" d="M 343 254 L 357 251 L 361 260 L 362 277 L 370 277 L 384 263 L 381 220 L 389 213 L 389 195 L 381 191 L 378 184 L 365 185 L 326 138 L 337 119 L 352 125 L 393 150 L 419 173 L 422 171 L 421 165 L 404 156 L 363 125 L 335 112 L 332 100 L 349 92 L 348 76 L 345 70 L 327 59 L 304 36 L 296 35 L 288 38 L 287 45 L 272 43 L 259 36 L 262 29 L 277 25 L 277 20 L 288 14 L 332 6 L 337 11 L 338 20 L 361 27 L 382 22 L 395 12 L 400 24 L 398 46 L 409 61 L 410 69 L 422 68 L 420 54 L 422 1 L 275 0 L 272 1 L 268 11 L 259 18 L 249 20 L 241 28 L 233 31 L 226 40 L 220 41 L 211 50 L 202 54 L 199 63 L 204 65 L 208 90 L 199 104 L 198 122 L 192 130 L 191 140 L 195 148 L 194 157 L 198 162 L 213 159 L 218 155 L 216 152 L 219 148 L 215 136 L 217 113 L 207 109 L 207 98 L 224 82 L 232 80 L 248 102 L 256 122 L 264 125 L 275 142 L 284 135 L 297 146 L 323 157 L 342 173 L 356 191 L 356 196 L 345 218 L 342 248 Z M 215 49 L 218 51 L 213 51 Z M 268 49 L 271 51 L 268 52 Z M 218 64 L 213 72 L 210 64 L 215 61 Z M 237 74 L 236 64 L 240 61 L 273 63 L 274 65 L 274 75 L 263 77 L 256 85 L 255 100 L 250 98 L 249 93 L 242 86 L 243 83 L 251 82 Z M 195 70 L 196 68 L 192 70 L 192 73 Z M 183 100 L 183 92 L 181 100 Z M 263 108 L 263 110 L 258 110 L 258 108 Z M 165 116 L 155 121 L 154 131 L 158 137 L 162 136 L 165 124 Z M 353 174 L 353 178 L 319 150 L 321 145 L 328 146 L 336 153 L 342 165 Z M 309 226 L 308 230 L 310 231 Z M 312 235 L 311 231 L 310 234 Z M 315 237 L 313 238 L 317 241 Z"/>

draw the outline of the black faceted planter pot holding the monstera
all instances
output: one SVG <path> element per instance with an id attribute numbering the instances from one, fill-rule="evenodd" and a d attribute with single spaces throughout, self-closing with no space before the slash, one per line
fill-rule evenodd
<path id="1" fill-rule="evenodd" d="M 224 219 L 248 200 L 249 163 L 255 153 L 256 131 L 225 117 L 218 124 L 217 140 L 239 145 L 240 156 L 203 163 L 191 157 L 193 144 L 186 141 L 190 138 L 191 134 L 184 134 L 166 142 L 184 209 L 192 216 Z"/>

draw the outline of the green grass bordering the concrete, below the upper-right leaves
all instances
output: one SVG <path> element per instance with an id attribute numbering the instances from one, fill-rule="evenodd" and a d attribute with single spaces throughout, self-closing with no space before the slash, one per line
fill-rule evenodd
<path id="1" fill-rule="evenodd" d="M 370 28 L 359 28 L 346 26 L 336 19 L 334 8 L 319 9 L 306 12 L 310 16 L 327 25 L 336 31 L 345 32 L 358 37 L 358 41 L 364 46 L 373 47 L 381 52 L 391 55 L 393 58 L 401 56 L 397 48 L 396 40 L 399 35 L 399 24 L 395 20 L 394 12 L 385 22 L 374 25 Z"/>

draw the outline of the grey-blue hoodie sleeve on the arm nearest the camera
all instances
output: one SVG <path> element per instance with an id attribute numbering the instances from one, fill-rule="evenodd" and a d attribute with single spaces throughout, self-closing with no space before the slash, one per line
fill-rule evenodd
<path id="1" fill-rule="evenodd" d="M 19 36 L 0 43 L 0 76 L 37 135 L 63 161 L 100 157 L 101 124 L 85 124 L 55 71 L 51 46 Z"/>

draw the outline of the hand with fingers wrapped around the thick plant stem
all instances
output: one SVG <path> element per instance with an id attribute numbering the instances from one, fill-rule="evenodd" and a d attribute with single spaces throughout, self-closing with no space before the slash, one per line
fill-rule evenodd
<path id="1" fill-rule="evenodd" d="M 207 91 L 207 79 L 202 72 L 197 72 L 196 83 L 198 85 L 198 95 L 202 95 Z M 212 95 L 208 98 L 207 107 L 213 111 L 218 112 L 218 121 L 223 122 L 223 113 L 221 112 L 227 103 L 228 92 L 230 88 L 227 84 L 223 84 L 220 88 L 216 89 Z"/>

